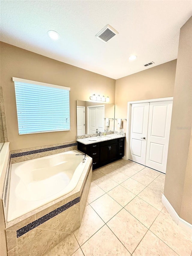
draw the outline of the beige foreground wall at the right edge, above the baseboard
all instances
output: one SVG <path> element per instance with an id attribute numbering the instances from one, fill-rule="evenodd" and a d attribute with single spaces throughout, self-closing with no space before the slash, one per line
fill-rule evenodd
<path id="1" fill-rule="evenodd" d="M 180 31 L 164 195 L 192 224 L 192 17 Z M 178 127 L 188 127 L 178 129 Z M 190 145 L 190 147 L 189 147 Z"/>

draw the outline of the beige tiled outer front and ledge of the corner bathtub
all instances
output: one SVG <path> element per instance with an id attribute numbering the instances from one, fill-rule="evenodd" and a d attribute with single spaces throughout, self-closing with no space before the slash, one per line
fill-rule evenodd
<path id="1" fill-rule="evenodd" d="M 70 236 L 80 226 L 91 179 L 90 160 L 73 191 L 6 223 L 8 255 L 43 255 Z"/>

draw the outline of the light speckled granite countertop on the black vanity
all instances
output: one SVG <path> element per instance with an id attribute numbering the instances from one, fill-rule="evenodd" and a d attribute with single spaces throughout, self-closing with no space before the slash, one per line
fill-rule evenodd
<path id="1" fill-rule="evenodd" d="M 92 143 L 97 143 L 101 141 L 106 141 L 106 140 L 113 140 L 113 139 L 118 139 L 118 138 L 123 138 L 125 135 L 119 135 L 119 134 L 107 134 L 107 135 L 102 135 L 102 136 L 97 136 L 97 137 L 89 137 L 89 138 L 84 138 L 84 139 L 77 139 L 76 141 L 81 142 L 85 145 L 92 144 Z"/>

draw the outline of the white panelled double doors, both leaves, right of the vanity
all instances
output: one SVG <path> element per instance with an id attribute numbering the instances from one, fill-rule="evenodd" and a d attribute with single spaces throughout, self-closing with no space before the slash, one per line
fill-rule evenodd
<path id="1" fill-rule="evenodd" d="M 129 159 L 166 172 L 173 101 L 131 105 Z"/>

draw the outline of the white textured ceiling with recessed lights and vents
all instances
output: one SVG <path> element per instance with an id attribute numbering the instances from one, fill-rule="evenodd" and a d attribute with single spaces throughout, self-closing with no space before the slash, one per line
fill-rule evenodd
<path id="1" fill-rule="evenodd" d="M 176 59 L 180 28 L 192 15 L 185 0 L 0 3 L 1 41 L 114 79 Z M 95 35 L 107 24 L 119 35 L 105 44 Z"/>

